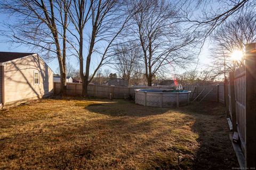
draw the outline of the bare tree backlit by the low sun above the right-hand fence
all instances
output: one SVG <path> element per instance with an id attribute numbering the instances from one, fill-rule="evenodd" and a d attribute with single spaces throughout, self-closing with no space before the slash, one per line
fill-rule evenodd
<path id="1" fill-rule="evenodd" d="M 235 61 L 231 58 L 234 50 L 245 53 L 245 45 L 256 41 L 256 14 L 244 13 L 237 19 L 226 21 L 217 29 L 213 36 L 214 47 L 211 48 L 213 67 L 218 76 L 226 75 L 234 71 L 237 66 L 243 64 L 243 58 Z"/>

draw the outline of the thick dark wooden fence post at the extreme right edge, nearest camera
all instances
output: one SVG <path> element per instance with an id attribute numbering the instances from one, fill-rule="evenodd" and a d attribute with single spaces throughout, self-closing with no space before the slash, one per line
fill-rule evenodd
<path id="1" fill-rule="evenodd" d="M 245 166 L 256 166 L 256 43 L 246 45 L 245 55 Z"/>

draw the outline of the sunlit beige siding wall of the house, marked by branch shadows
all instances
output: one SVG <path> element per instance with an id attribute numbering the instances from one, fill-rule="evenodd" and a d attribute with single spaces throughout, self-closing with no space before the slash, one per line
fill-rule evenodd
<path id="1" fill-rule="evenodd" d="M 34 72 L 39 84 L 34 84 Z M 53 72 L 39 56 L 29 56 L 6 63 L 4 70 L 4 105 L 53 93 Z"/>

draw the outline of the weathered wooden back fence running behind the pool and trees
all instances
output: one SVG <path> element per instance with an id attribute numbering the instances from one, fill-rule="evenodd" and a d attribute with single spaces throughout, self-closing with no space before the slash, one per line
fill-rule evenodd
<path id="1" fill-rule="evenodd" d="M 122 86 L 102 86 L 89 84 L 88 94 L 93 97 L 109 98 L 128 98 L 131 95 L 135 97 L 135 89 L 171 89 L 171 87 L 122 87 Z M 190 99 L 194 100 L 197 96 L 197 100 L 208 100 L 208 101 L 220 101 L 225 102 L 224 85 L 218 84 L 217 86 L 187 86 L 185 90 L 190 90 Z M 59 94 L 60 82 L 54 82 L 54 94 Z M 81 83 L 67 83 L 67 95 L 80 96 L 82 95 L 82 84 Z"/>

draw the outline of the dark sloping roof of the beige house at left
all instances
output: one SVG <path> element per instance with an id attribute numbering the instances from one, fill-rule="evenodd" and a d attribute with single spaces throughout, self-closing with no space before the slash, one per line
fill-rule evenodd
<path id="1" fill-rule="evenodd" d="M 0 52 L 0 63 L 22 58 L 35 53 Z"/>

